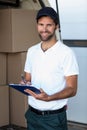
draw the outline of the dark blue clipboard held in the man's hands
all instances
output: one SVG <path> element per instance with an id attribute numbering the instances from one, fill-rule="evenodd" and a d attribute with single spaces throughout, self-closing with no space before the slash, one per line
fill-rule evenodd
<path id="1" fill-rule="evenodd" d="M 24 91 L 25 89 L 30 89 L 31 91 L 35 92 L 36 94 L 40 93 L 40 90 L 32 85 L 9 84 L 9 87 L 14 88 L 27 96 L 29 96 L 30 94 L 25 92 Z"/>

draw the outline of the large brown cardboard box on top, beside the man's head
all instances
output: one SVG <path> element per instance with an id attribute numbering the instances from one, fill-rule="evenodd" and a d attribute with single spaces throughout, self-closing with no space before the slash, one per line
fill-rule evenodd
<path id="1" fill-rule="evenodd" d="M 36 10 L 0 10 L 0 52 L 22 52 L 40 41 Z"/>

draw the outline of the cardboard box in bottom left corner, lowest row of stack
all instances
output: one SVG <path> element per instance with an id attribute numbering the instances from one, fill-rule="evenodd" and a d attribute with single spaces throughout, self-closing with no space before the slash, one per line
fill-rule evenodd
<path id="1" fill-rule="evenodd" d="M 9 87 L 0 85 L 0 127 L 9 125 Z"/>

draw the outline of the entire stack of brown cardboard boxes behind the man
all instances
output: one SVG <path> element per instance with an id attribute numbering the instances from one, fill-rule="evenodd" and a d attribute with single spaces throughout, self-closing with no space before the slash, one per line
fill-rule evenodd
<path id="1" fill-rule="evenodd" d="M 6 92 L 3 90 L 3 95 L 8 100 L 0 109 L 2 114 L 6 113 L 3 118 L 0 115 L 0 127 L 9 123 L 26 127 L 24 114 L 28 108 L 27 96 L 6 85 L 19 83 L 24 72 L 26 52 L 30 46 L 40 41 L 36 30 L 36 13 L 35 10 L 26 9 L 0 10 L 0 84 L 4 85 Z M 3 95 L 0 94 L 0 104 Z"/>

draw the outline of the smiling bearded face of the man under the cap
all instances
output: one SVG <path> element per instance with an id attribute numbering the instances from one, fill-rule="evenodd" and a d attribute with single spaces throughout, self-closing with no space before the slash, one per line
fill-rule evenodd
<path id="1" fill-rule="evenodd" d="M 37 29 L 42 41 L 49 41 L 55 36 L 55 25 L 53 19 L 48 16 L 41 17 L 37 23 Z"/>

